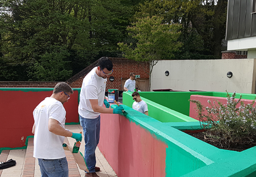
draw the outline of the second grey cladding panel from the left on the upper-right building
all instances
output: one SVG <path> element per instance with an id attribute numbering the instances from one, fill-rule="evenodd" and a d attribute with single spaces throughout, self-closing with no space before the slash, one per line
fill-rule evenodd
<path id="1" fill-rule="evenodd" d="M 232 39 L 238 38 L 239 15 L 240 15 L 240 0 L 235 0 L 234 1 Z"/>

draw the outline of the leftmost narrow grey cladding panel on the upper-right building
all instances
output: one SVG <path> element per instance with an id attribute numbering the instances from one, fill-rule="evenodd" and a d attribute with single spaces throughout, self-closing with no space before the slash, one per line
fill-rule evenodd
<path id="1" fill-rule="evenodd" d="M 228 0 L 226 40 L 232 39 L 233 14 L 234 14 L 234 0 Z"/>

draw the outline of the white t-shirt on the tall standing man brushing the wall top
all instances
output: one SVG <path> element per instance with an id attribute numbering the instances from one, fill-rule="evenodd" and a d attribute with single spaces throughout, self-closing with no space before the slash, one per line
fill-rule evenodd
<path id="1" fill-rule="evenodd" d="M 78 113 L 83 118 L 94 119 L 100 113 L 94 112 L 91 107 L 90 99 L 98 100 L 98 105 L 102 106 L 105 98 L 107 79 L 99 77 L 93 68 L 84 78 L 80 92 L 80 102 L 78 105 Z"/>

